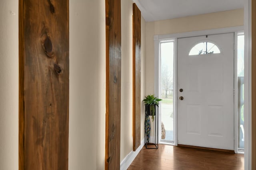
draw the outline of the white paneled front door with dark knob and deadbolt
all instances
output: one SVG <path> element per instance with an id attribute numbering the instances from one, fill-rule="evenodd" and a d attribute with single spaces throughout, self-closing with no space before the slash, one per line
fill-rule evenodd
<path id="1" fill-rule="evenodd" d="M 178 39 L 178 144 L 234 150 L 234 33 Z"/>

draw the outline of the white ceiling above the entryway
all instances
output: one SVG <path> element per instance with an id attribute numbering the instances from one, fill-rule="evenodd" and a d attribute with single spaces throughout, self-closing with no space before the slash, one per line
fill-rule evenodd
<path id="1" fill-rule="evenodd" d="M 244 8 L 244 0 L 134 0 L 145 21 Z"/>

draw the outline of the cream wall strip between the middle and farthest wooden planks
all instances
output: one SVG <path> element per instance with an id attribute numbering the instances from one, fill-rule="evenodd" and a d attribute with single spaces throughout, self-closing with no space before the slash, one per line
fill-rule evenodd
<path id="1" fill-rule="evenodd" d="M 121 0 L 121 37 L 120 161 L 132 150 L 132 0 Z"/>

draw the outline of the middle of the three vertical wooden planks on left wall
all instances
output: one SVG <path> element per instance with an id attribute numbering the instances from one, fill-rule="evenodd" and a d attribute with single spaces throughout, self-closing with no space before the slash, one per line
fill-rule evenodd
<path id="1" fill-rule="evenodd" d="M 121 0 L 106 0 L 105 169 L 120 169 Z"/>

